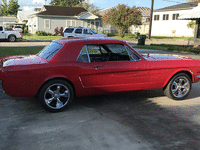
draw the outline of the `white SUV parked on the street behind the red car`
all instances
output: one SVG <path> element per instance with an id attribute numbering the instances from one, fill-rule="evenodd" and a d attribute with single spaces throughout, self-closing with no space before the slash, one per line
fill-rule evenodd
<path id="1" fill-rule="evenodd" d="M 90 28 L 83 27 L 66 27 L 63 30 L 63 38 L 69 37 L 107 37 L 105 34 L 95 33 Z"/>

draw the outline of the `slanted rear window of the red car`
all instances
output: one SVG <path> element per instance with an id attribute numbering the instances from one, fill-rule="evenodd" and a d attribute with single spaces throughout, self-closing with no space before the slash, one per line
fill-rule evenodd
<path id="1" fill-rule="evenodd" d="M 43 59 L 50 60 L 61 48 L 63 44 L 52 42 L 46 47 L 44 47 L 37 56 L 42 57 Z"/>

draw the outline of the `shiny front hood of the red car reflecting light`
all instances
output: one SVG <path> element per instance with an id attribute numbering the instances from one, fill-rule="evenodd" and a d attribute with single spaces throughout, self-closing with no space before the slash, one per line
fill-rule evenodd
<path id="1" fill-rule="evenodd" d="M 185 56 L 179 55 L 159 55 L 159 54 L 144 54 L 142 55 L 146 60 L 191 60 L 192 58 L 188 58 Z"/>

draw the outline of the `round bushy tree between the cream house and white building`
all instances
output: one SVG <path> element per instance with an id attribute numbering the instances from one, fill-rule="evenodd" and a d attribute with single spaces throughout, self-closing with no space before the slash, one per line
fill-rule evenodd
<path id="1" fill-rule="evenodd" d="M 131 8 L 124 4 L 108 10 L 102 17 L 104 25 L 112 25 L 118 28 L 119 35 L 123 38 L 126 30 L 132 25 L 141 25 L 142 14 L 134 6 Z"/>

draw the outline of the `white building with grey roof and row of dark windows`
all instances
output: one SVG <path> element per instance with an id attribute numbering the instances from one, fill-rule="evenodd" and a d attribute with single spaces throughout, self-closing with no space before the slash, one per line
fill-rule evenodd
<path id="1" fill-rule="evenodd" d="M 194 36 L 193 30 L 187 27 L 190 20 L 178 20 L 179 14 L 197 6 L 197 2 L 181 3 L 154 10 L 152 36 Z"/>

